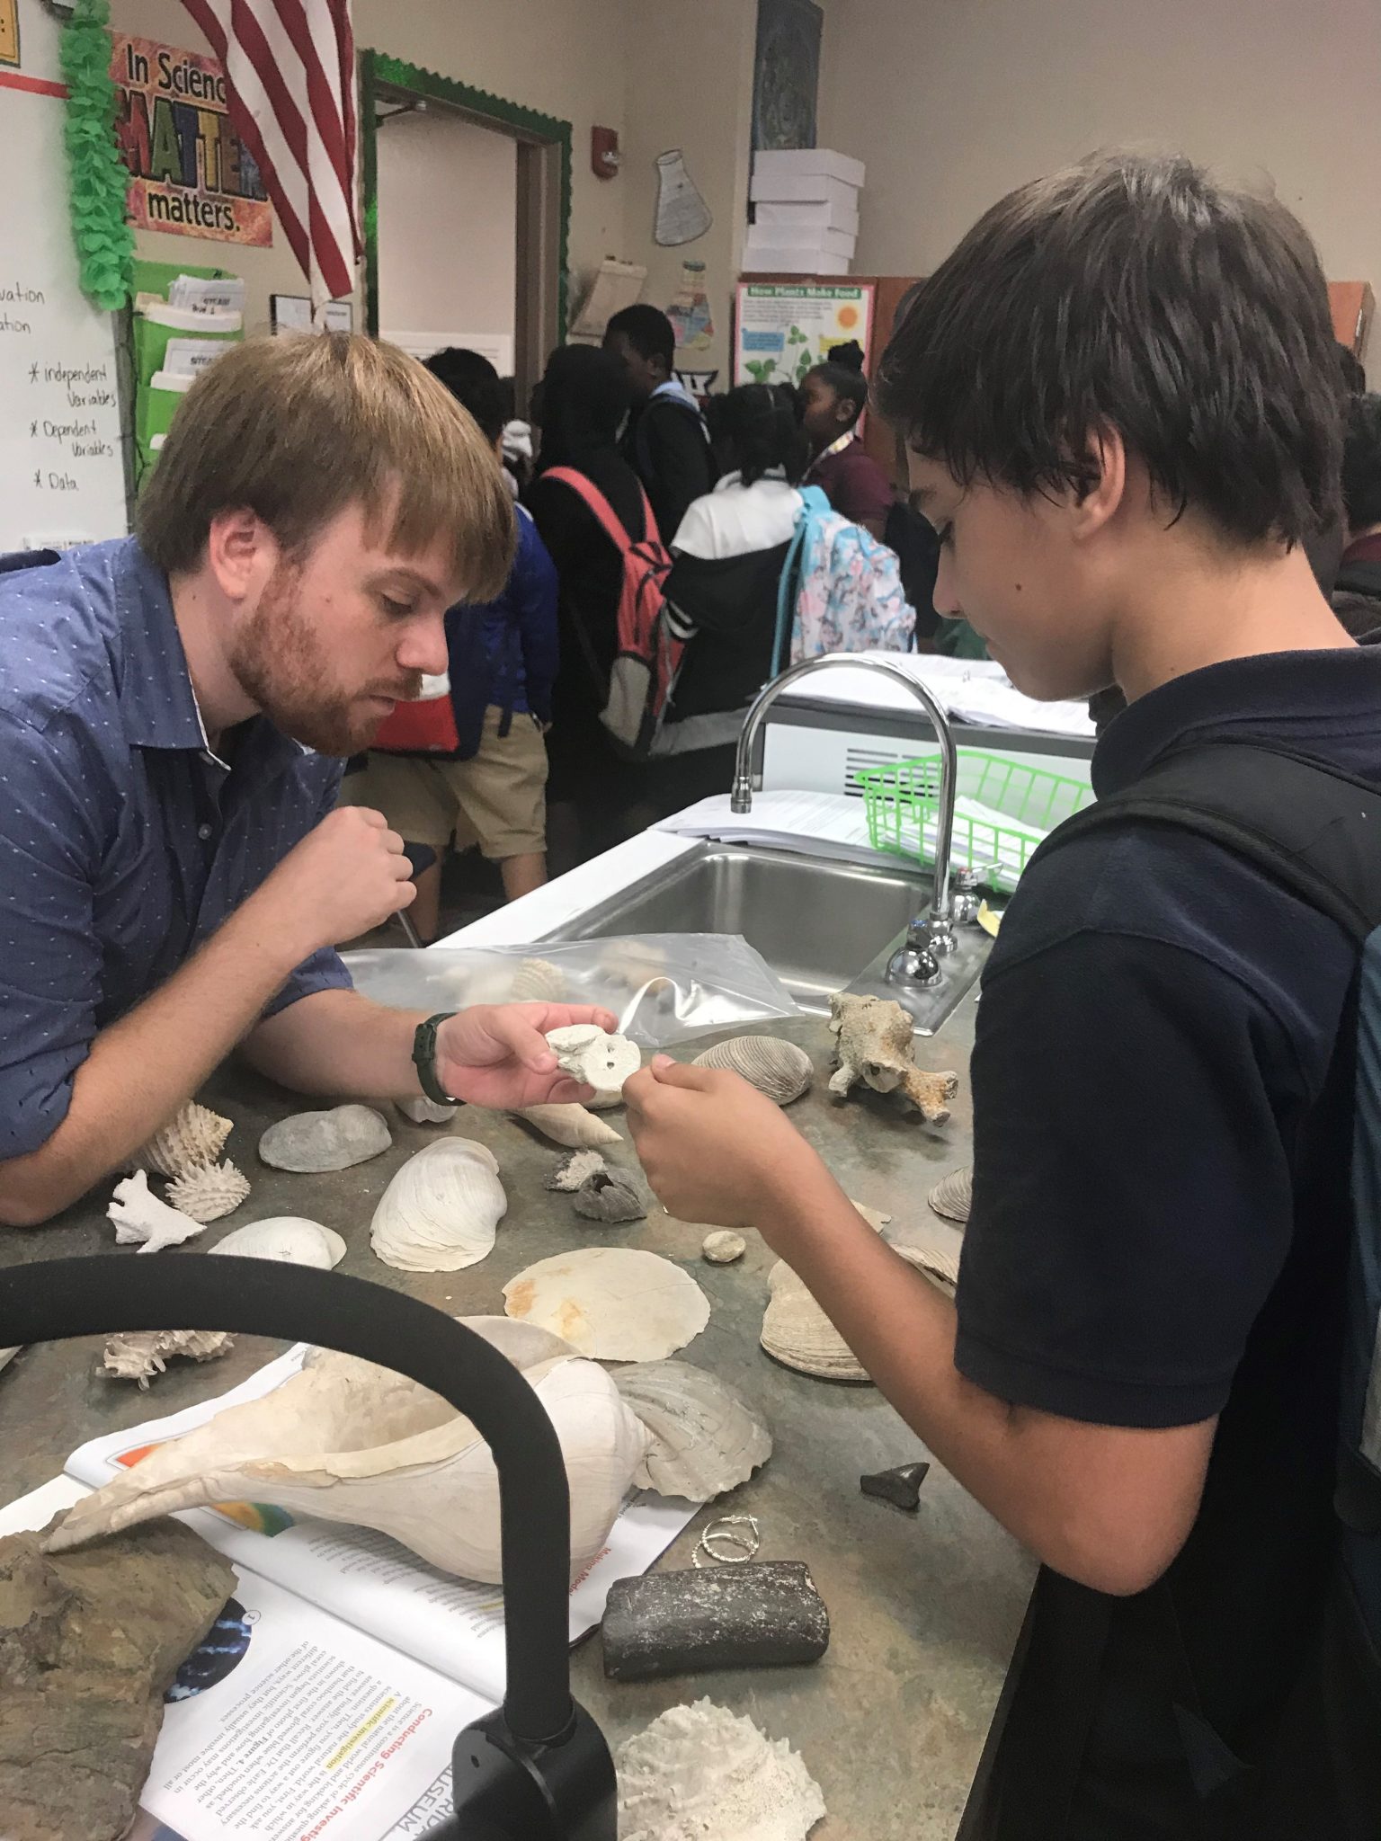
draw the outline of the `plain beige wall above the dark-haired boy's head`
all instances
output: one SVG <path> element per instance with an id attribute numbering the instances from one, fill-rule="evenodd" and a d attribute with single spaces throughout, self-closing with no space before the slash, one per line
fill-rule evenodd
<path id="1" fill-rule="evenodd" d="M 867 162 L 862 274 L 924 274 L 1020 180 L 1142 142 L 1274 180 L 1329 278 L 1381 284 L 1375 0 L 830 0 L 821 63 L 821 142 Z"/>

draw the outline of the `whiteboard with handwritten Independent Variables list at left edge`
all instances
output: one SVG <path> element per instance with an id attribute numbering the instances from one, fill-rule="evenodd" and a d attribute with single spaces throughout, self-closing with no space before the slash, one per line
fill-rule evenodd
<path id="1" fill-rule="evenodd" d="M 77 285 L 59 31 L 18 0 L 18 66 L 0 63 L 0 550 L 129 530 L 114 315 Z"/>

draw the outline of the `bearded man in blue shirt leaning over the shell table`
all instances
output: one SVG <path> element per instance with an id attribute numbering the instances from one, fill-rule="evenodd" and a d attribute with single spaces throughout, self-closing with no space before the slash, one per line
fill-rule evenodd
<path id="1" fill-rule="evenodd" d="M 304 1094 L 584 1097 L 543 1033 L 606 1013 L 424 1018 L 333 950 L 412 898 L 401 838 L 333 810 L 337 757 L 512 547 L 449 392 L 335 335 L 217 359 L 138 534 L 0 578 L 0 1222 L 123 1167 L 236 1044 Z"/>

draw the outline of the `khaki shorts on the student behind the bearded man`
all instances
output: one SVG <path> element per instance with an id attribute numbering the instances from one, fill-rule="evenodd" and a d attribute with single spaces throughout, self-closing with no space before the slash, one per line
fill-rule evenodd
<path id="1" fill-rule="evenodd" d="M 457 851 L 477 843 L 490 862 L 547 849 L 547 744 L 536 718 L 514 711 L 503 740 L 503 711 L 484 712 L 484 735 L 471 760 L 424 760 L 372 753 L 361 773 L 346 775 L 341 805 L 368 805 L 407 843 Z"/>

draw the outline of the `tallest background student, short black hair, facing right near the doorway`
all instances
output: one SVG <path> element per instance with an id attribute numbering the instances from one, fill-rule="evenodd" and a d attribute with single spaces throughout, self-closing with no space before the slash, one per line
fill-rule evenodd
<path id="1" fill-rule="evenodd" d="M 604 350 L 624 366 L 633 399 L 624 458 L 646 486 L 657 528 L 670 539 L 690 504 L 714 484 L 705 420 L 694 396 L 672 377 L 672 322 L 646 302 L 624 307 L 609 320 Z"/>

